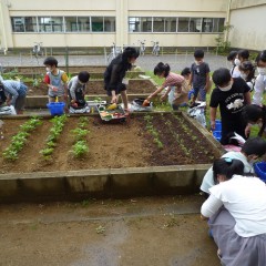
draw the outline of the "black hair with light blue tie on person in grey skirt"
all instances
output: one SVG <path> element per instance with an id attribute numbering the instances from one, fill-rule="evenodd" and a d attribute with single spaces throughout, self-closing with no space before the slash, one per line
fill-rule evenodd
<path id="1" fill-rule="evenodd" d="M 215 160 L 213 163 L 213 178 L 217 184 L 217 175 L 225 175 L 227 180 L 231 180 L 233 175 L 244 174 L 244 164 L 241 160 L 222 157 Z"/>

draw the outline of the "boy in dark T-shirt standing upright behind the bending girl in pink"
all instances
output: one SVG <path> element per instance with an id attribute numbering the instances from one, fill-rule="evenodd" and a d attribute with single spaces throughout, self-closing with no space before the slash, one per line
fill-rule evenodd
<path id="1" fill-rule="evenodd" d="M 204 51 L 196 50 L 194 52 L 195 62 L 191 66 L 191 80 L 190 85 L 193 85 L 194 95 L 191 101 L 191 106 L 195 106 L 195 101 L 198 95 L 198 100 L 206 101 L 206 92 L 209 88 L 209 66 L 203 61 Z"/>

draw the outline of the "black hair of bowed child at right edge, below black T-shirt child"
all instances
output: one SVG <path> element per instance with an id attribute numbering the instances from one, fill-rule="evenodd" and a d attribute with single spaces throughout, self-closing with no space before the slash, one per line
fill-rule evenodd
<path id="1" fill-rule="evenodd" d="M 242 152 L 247 156 L 254 154 L 260 157 L 266 153 L 266 141 L 260 136 L 250 137 L 244 143 Z"/>

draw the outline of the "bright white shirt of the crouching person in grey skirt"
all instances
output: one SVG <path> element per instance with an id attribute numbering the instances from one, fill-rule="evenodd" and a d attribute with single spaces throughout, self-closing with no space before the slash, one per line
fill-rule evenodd
<path id="1" fill-rule="evenodd" d="M 229 181 L 209 188 L 209 192 L 235 218 L 235 232 L 239 236 L 266 233 L 266 185 L 258 177 L 234 175 Z"/>

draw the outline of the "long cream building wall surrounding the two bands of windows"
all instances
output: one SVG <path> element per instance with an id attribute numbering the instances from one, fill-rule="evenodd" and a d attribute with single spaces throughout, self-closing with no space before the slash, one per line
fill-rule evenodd
<path id="1" fill-rule="evenodd" d="M 129 33 L 129 17 L 200 17 L 226 18 L 228 0 L 0 0 L 0 39 L 2 48 L 28 48 L 34 42 L 43 47 L 110 47 L 158 41 L 164 47 L 213 47 L 215 33 Z M 116 17 L 115 33 L 12 33 L 10 17 L 20 16 L 111 16 Z"/>

